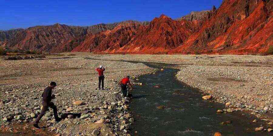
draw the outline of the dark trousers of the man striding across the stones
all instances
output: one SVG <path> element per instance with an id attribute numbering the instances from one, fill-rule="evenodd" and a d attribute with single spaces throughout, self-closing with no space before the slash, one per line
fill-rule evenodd
<path id="1" fill-rule="evenodd" d="M 36 118 L 36 120 L 34 121 L 34 124 L 38 124 L 39 121 L 41 120 L 41 118 L 43 117 L 43 115 L 45 115 L 45 112 L 47 112 L 49 110 L 49 108 L 53 109 L 53 113 L 54 113 L 54 118 L 57 119 L 58 117 L 58 111 L 57 111 L 57 107 L 54 105 L 53 102 L 42 102 L 43 105 L 43 109 L 41 111 L 41 113 L 38 115 L 38 117 Z"/>

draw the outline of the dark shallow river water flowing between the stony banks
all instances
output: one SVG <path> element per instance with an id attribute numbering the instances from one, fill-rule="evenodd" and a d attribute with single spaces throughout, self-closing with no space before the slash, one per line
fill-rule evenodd
<path id="1" fill-rule="evenodd" d="M 246 112 L 217 114 L 216 111 L 224 109 L 224 105 L 203 100 L 199 90 L 175 78 L 177 71 L 165 69 L 139 77 L 137 82 L 143 85 L 135 86 L 130 104 L 136 119 L 132 135 L 211 136 L 217 131 L 223 136 L 270 135 L 267 131 L 253 131 L 261 123 L 252 123 L 257 118 Z M 156 85 L 160 88 L 155 88 Z M 165 108 L 158 109 L 160 105 Z M 221 125 L 225 121 L 231 123 Z"/>

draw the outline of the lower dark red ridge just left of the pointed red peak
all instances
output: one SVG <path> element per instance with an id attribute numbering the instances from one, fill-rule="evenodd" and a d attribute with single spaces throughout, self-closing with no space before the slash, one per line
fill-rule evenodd
<path id="1" fill-rule="evenodd" d="M 85 40 L 72 52 L 116 52 L 135 37 L 141 23 L 127 21 L 113 30 L 86 35 Z"/>

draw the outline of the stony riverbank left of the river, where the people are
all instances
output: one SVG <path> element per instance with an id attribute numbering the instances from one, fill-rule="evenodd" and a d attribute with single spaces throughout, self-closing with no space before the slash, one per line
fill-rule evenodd
<path id="1" fill-rule="evenodd" d="M 95 68 L 99 65 L 106 68 L 105 90 L 97 89 Z M 20 135 L 129 133 L 126 129 L 133 118 L 128 115 L 118 82 L 127 75 L 137 77 L 155 71 L 142 63 L 92 60 L 83 56 L 1 60 L 0 67 L 0 129 L 5 134 Z M 32 121 L 41 110 L 40 96 L 51 81 L 57 83 L 53 102 L 62 121 L 56 122 L 50 110 L 40 123 L 44 128 L 35 129 Z M 81 104 L 73 104 L 75 101 Z"/>

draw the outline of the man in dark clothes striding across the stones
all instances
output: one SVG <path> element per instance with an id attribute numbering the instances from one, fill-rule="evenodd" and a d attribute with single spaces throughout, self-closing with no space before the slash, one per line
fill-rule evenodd
<path id="1" fill-rule="evenodd" d="M 36 120 L 33 123 L 33 126 L 36 128 L 39 128 L 38 123 L 43 115 L 45 115 L 45 112 L 48 111 L 49 107 L 53 109 L 54 118 L 56 121 L 60 121 L 60 118 L 58 117 L 57 107 L 54 105 L 53 102 L 51 102 L 52 99 L 55 99 L 55 95 L 52 95 L 52 89 L 54 89 L 56 86 L 55 82 L 51 82 L 48 87 L 44 89 L 44 92 L 42 93 L 42 111 L 36 118 Z"/>

